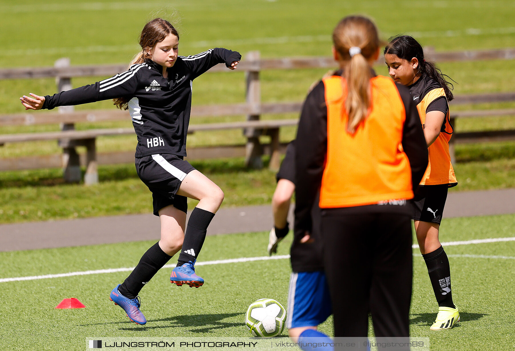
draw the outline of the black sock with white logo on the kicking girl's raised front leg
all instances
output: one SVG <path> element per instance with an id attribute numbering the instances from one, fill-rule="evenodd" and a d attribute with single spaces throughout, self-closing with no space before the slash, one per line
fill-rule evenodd
<path id="1" fill-rule="evenodd" d="M 184 233 L 184 242 L 182 243 L 177 266 L 183 265 L 188 261 L 195 262 L 204 244 L 205 232 L 208 230 L 208 226 L 214 216 L 214 213 L 201 208 L 195 207 L 193 209 L 188 220 L 186 232 Z"/>

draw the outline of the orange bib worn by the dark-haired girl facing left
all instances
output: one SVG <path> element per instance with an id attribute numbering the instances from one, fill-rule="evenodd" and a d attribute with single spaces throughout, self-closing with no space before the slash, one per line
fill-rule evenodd
<path id="1" fill-rule="evenodd" d="M 420 121 L 425 125 L 425 110 L 435 99 L 445 96 L 443 88 L 433 89 L 425 94 L 422 101 L 417 105 Z M 456 175 L 451 164 L 451 155 L 449 153 L 449 140 L 452 136 L 452 126 L 449 121 L 449 111 L 445 116 L 445 124 L 436 138 L 435 142 L 428 148 L 429 162 L 424 176 L 420 181 L 420 185 L 438 185 L 449 184 L 456 185 Z"/>

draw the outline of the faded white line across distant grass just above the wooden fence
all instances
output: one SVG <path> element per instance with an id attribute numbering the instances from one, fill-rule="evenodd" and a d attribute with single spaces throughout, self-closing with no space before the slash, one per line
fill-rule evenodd
<path id="1" fill-rule="evenodd" d="M 405 34 L 415 38 L 430 37 L 460 37 L 460 36 L 479 36 L 479 35 L 507 35 L 514 34 L 515 27 L 505 28 L 467 28 L 462 30 L 441 30 L 441 31 L 414 31 Z M 400 33 L 390 33 L 387 36 Z M 201 40 L 185 42 L 181 46 L 185 47 L 215 47 L 215 46 L 237 46 L 237 45 L 258 45 L 258 44 L 287 44 L 287 43 L 313 43 L 330 42 L 331 36 L 292 36 L 292 37 L 265 37 L 247 38 L 234 40 Z M 8 49 L 0 52 L 0 56 L 27 56 L 27 55 L 66 55 L 66 54 L 88 54 L 88 53 L 111 53 L 111 52 L 138 52 L 138 45 L 90 45 L 72 47 L 44 47 L 33 49 Z"/>

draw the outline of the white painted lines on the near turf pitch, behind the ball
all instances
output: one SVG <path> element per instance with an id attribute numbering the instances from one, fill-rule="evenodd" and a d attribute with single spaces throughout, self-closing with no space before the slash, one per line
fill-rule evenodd
<path id="1" fill-rule="evenodd" d="M 515 241 L 515 237 L 511 238 L 491 238 L 491 239 L 476 239 L 476 240 L 468 240 L 468 241 L 450 241 L 443 242 L 443 246 L 456 246 L 456 245 L 469 245 L 469 244 L 484 244 L 484 243 L 495 243 L 495 242 L 503 242 L 503 241 Z M 413 245 L 413 248 L 418 248 L 418 245 Z M 449 257 L 470 257 L 470 258 L 504 258 L 504 259 L 515 259 L 515 257 L 509 256 L 484 256 L 484 255 L 448 255 Z M 228 260 L 216 260 L 216 261 L 205 261 L 205 262 L 197 262 L 196 266 L 200 265 L 212 265 L 212 264 L 224 264 L 224 263 L 239 263 L 239 262 L 252 262 L 252 261 L 266 261 L 266 260 L 281 260 L 287 259 L 289 255 L 281 255 L 281 256 L 260 256 L 260 257 L 242 257 L 242 258 L 232 258 Z M 174 268 L 175 264 L 166 264 L 163 268 Z M 47 274 L 47 275 L 35 275 L 28 277 L 13 277 L 13 278 L 0 278 L 0 283 L 8 282 L 8 281 L 21 281 L 21 280 L 37 280 L 37 279 L 48 279 L 48 278 L 61 278 L 61 277 L 71 277 L 76 275 L 90 275 L 90 274 L 102 274 L 102 273 L 116 273 L 116 272 L 131 272 L 134 267 L 129 268 L 112 268 L 107 270 L 96 270 L 96 271 L 81 271 L 81 272 L 70 272 L 70 273 L 60 273 L 60 274 Z"/>

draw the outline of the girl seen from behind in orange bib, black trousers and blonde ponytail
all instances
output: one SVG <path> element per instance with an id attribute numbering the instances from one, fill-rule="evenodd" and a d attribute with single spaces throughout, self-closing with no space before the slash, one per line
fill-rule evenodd
<path id="1" fill-rule="evenodd" d="M 371 312 L 378 342 L 408 337 L 407 200 L 427 166 L 424 133 L 409 91 L 372 70 L 380 49 L 372 21 L 342 19 L 333 43 L 340 70 L 307 95 L 297 131 L 295 236 L 316 229 L 319 191 L 334 336 L 367 337 Z"/>

